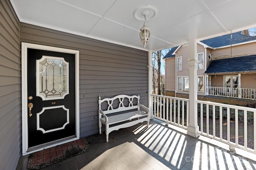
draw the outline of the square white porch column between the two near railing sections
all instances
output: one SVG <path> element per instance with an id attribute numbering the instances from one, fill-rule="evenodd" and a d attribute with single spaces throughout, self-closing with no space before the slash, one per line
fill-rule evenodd
<path id="1" fill-rule="evenodd" d="M 189 69 L 189 123 L 188 135 L 198 137 L 199 127 L 197 124 L 197 91 L 198 91 L 198 77 L 197 77 L 197 43 L 196 39 L 188 40 L 188 69 Z"/>

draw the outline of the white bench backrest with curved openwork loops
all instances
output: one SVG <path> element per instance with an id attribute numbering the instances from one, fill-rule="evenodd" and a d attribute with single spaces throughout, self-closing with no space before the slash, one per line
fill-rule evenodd
<path id="1" fill-rule="evenodd" d="M 128 106 L 124 105 L 124 100 L 125 98 L 128 99 Z M 133 104 L 134 99 L 137 98 L 138 102 L 136 105 Z M 117 108 L 114 108 L 112 105 L 114 104 L 114 100 L 118 99 L 117 101 L 119 101 L 119 106 Z M 120 112 L 120 111 L 126 111 L 126 110 L 131 110 L 131 109 L 139 109 L 139 103 L 140 103 L 140 96 L 128 96 L 128 95 L 118 95 L 115 96 L 113 98 L 104 98 L 101 99 L 99 96 L 99 109 L 101 109 L 101 104 L 103 102 L 107 102 L 108 104 L 108 108 L 106 110 L 103 110 L 105 114 L 108 113 L 116 113 L 116 112 Z M 116 103 L 115 103 L 116 104 Z"/>

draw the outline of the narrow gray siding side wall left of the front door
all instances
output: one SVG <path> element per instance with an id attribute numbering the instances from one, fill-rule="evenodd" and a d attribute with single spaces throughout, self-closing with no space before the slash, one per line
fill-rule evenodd
<path id="1" fill-rule="evenodd" d="M 0 169 L 20 158 L 20 22 L 9 2 L 0 1 Z"/>

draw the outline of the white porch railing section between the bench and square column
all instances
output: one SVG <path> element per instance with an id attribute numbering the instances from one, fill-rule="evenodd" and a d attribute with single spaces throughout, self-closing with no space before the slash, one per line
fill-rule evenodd
<path id="1" fill-rule="evenodd" d="M 183 129 L 188 128 L 188 99 L 152 94 L 152 116 Z"/>

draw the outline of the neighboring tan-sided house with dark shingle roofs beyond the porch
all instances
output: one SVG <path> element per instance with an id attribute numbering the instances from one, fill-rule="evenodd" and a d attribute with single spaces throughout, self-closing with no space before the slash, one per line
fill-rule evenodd
<path id="1" fill-rule="evenodd" d="M 198 95 L 256 99 L 255 47 L 248 31 L 198 41 Z M 188 45 L 172 48 L 164 59 L 166 95 L 188 98 Z"/>

